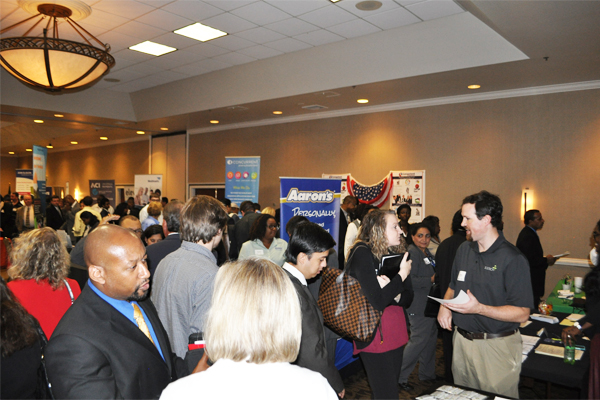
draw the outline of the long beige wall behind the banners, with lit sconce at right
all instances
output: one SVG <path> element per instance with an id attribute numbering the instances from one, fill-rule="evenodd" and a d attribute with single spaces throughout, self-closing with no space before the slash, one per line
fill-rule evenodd
<path id="1" fill-rule="evenodd" d="M 350 172 L 378 182 L 425 169 L 426 212 L 442 236 L 464 196 L 487 189 L 504 204 L 505 234 L 522 228 L 521 191 L 535 191 L 547 252 L 585 258 L 600 218 L 600 91 L 489 100 L 190 136 L 189 181 L 223 182 L 225 156 L 261 156 L 261 206 L 279 201 L 280 176 Z"/>

